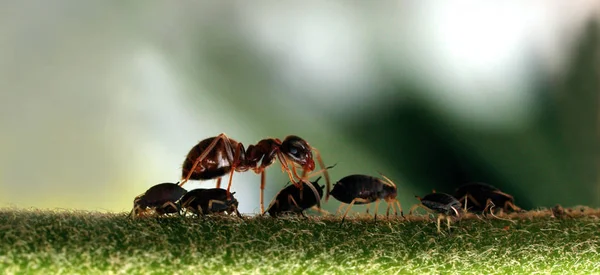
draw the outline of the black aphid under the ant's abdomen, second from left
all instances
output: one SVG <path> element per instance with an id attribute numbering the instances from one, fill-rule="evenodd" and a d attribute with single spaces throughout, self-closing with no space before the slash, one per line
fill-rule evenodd
<path id="1" fill-rule="evenodd" d="M 227 198 L 227 190 L 221 188 L 194 189 L 181 198 L 181 209 L 200 216 L 212 213 L 236 213 L 242 217 L 238 211 L 238 201 L 233 197 L 235 192 Z"/>

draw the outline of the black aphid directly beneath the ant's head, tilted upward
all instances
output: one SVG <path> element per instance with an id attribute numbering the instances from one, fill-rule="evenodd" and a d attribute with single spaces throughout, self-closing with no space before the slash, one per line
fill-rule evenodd
<path id="1" fill-rule="evenodd" d="M 311 182 L 311 185 L 317 190 L 319 198 L 323 197 L 323 188 L 325 188 L 324 185 L 319 186 L 320 179 L 321 177 Z M 304 216 L 304 210 L 317 205 L 318 199 L 305 182 L 302 182 L 302 185 L 302 189 L 295 185 L 289 185 L 281 189 L 267 208 L 269 215 L 277 217 L 282 214 L 297 213 L 306 217 Z"/>

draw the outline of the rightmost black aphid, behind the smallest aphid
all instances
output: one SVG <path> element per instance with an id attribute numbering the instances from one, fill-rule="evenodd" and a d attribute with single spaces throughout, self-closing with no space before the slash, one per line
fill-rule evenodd
<path id="1" fill-rule="evenodd" d="M 515 205 L 513 196 L 485 183 L 465 184 L 456 189 L 454 197 L 464 204 L 465 210 L 471 212 L 485 213 L 488 209 L 491 211 L 494 206 L 504 211 L 521 211 L 521 208 Z"/>

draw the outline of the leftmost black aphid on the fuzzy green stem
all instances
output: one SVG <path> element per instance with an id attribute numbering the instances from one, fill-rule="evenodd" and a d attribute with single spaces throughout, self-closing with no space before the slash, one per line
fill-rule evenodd
<path id="1" fill-rule="evenodd" d="M 179 199 L 187 191 L 178 183 L 165 182 L 150 187 L 144 194 L 133 200 L 131 217 L 142 216 L 150 210 L 156 214 L 170 214 L 179 212 Z"/>

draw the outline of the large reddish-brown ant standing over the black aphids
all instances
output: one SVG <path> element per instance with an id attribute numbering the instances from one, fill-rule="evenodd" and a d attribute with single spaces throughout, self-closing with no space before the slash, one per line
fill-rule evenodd
<path id="1" fill-rule="evenodd" d="M 188 153 L 183 162 L 182 180 L 179 184 L 183 186 L 188 180 L 208 180 L 217 178 L 217 188 L 221 185 L 221 177 L 229 173 L 229 184 L 227 194 L 230 194 L 233 172 L 246 172 L 252 169 L 260 178 L 260 212 L 264 213 L 263 192 L 265 189 L 265 168 L 273 164 L 276 159 L 281 163 L 283 171 L 287 172 L 290 181 L 298 188 L 302 188 L 302 182 L 314 189 L 308 182 L 312 175 L 307 173 L 315 169 L 312 151 L 315 151 L 317 161 L 325 173 L 327 190 L 329 190 L 329 174 L 321 159 L 319 151 L 311 147 L 308 142 L 298 136 L 287 136 L 283 142 L 278 138 L 266 138 L 260 140 L 256 145 L 244 145 L 229 138 L 224 133 L 216 137 L 210 137 L 200 141 Z M 296 166 L 302 168 L 302 176 L 296 172 Z M 316 172 L 316 173 L 320 173 Z M 316 174 L 313 173 L 313 174 Z M 316 190 L 313 192 L 318 195 Z"/>

